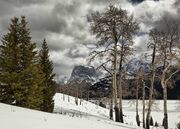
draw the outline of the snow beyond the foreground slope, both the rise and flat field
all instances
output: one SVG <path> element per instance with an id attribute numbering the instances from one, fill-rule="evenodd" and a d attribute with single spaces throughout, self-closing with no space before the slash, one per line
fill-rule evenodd
<path id="1" fill-rule="evenodd" d="M 64 97 L 64 99 L 63 99 Z M 179 101 L 169 100 L 168 101 L 168 119 L 169 128 L 175 129 L 176 124 L 180 122 L 180 103 Z M 68 114 L 70 116 L 86 117 L 88 119 L 96 120 L 107 120 L 109 121 L 109 110 L 99 107 L 91 102 L 82 101 L 81 105 L 75 104 L 75 98 L 67 95 L 56 94 L 55 95 L 55 110 L 56 113 Z M 136 126 L 135 121 L 135 101 L 123 100 L 123 113 L 124 113 L 124 123 Z M 139 115 L 142 121 L 142 102 L 139 101 Z M 157 100 L 154 102 L 152 107 L 152 117 L 154 123 L 157 122 L 160 126 L 163 120 L 163 101 Z"/>

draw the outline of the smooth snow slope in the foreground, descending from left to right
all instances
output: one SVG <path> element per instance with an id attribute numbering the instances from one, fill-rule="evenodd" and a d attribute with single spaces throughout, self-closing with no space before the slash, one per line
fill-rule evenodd
<path id="1" fill-rule="evenodd" d="M 138 129 L 107 122 L 45 113 L 0 103 L 1 129 Z"/>

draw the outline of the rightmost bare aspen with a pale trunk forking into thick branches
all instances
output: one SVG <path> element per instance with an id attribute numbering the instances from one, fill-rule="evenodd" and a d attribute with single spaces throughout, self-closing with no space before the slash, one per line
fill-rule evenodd
<path id="1" fill-rule="evenodd" d="M 167 87 L 170 79 L 180 70 L 180 49 L 178 48 L 180 38 L 180 24 L 168 23 L 165 20 L 167 29 L 161 30 L 161 42 L 159 46 L 159 55 L 161 64 L 163 64 L 160 75 L 161 86 L 163 88 L 164 118 L 163 126 L 168 129 L 168 111 L 167 111 Z M 176 70 L 174 70 L 176 69 Z"/>

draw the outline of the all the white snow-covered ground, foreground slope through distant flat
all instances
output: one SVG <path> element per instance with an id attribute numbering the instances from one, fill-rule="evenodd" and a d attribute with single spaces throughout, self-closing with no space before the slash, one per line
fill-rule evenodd
<path id="1" fill-rule="evenodd" d="M 109 110 L 91 102 L 82 101 L 76 105 L 74 97 L 56 94 L 55 109 L 52 113 L 45 113 L 0 103 L 0 129 L 140 129 L 135 123 L 134 104 L 124 101 L 125 122 L 132 125 L 116 123 L 108 119 Z M 80 101 L 78 101 L 80 102 Z M 154 107 L 153 119 L 161 123 L 163 112 L 162 102 Z M 169 124 L 173 129 L 180 118 L 180 109 L 176 108 L 176 101 L 168 102 Z M 141 110 L 139 110 L 141 111 Z"/>

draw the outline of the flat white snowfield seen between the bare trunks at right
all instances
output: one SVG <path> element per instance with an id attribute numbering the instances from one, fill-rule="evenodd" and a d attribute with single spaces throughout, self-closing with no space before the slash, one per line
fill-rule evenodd
<path id="1" fill-rule="evenodd" d="M 169 129 L 175 129 L 178 122 L 180 122 L 180 103 L 175 100 L 168 100 L 168 120 L 169 120 Z M 136 125 L 135 121 L 135 102 L 132 101 L 123 101 L 123 109 L 125 114 L 125 121 L 128 124 Z M 139 115 L 142 121 L 142 102 L 139 101 Z M 162 125 L 163 120 L 163 101 L 156 100 L 152 107 L 152 118 L 154 123 L 157 122 L 159 125 Z"/>

